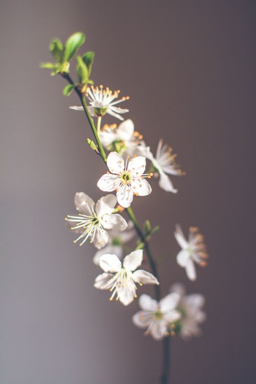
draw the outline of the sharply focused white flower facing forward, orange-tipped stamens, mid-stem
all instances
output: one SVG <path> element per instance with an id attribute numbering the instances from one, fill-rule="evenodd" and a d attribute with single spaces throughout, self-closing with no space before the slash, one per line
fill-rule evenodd
<path id="1" fill-rule="evenodd" d="M 110 173 L 99 179 L 97 186 L 106 192 L 116 190 L 118 204 L 127 208 L 133 201 L 133 195 L 146 196 L 151 193 L 151 186 L 144 178 L 153 174 L 143 174 L 146 167 L 144 156 L 137 156 L 124 164 L 123 158 L 117 152 L 111 152 L 106 160 Z"/>

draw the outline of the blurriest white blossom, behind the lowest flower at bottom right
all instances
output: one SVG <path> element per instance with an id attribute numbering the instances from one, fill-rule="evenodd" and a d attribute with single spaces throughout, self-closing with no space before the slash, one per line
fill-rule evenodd
<path id="1" fill-rule="evenodd" d="M 182 317 L 171 325 L 171 329 L 184 340 L 199 336 L 201 334 L 199 324 L 206 319 L 205 312 L 202 311 L 205 303 L 204 296 L 198 293 L 186 295 L 184 286 L 179 283 L 170 287 L 170 292 L 176 292 L 180 295 L 177 308 L 182 314 Z"/>

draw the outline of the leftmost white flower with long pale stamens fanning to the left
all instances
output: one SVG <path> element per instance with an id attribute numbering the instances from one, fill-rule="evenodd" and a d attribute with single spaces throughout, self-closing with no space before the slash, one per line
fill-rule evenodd
<path id="1" fill-rule="evenodd" d="M 68 215 L 65 219 L 75 223 L 71 229 L 80 233 L 74 243 L 81 240 L 80 245 L 82 245 L 90 237 L 91 243 L 100 249 L 108 243 L 108 230 L 123 231 L 127 227 L 126 221 L 122 216 L 113 214 L 116 201 L 115 195 L 106 195 L 97 201 L 94 209 L 94 201 L 83 192 L 77 192 L 75 206 L 79 214 L 78 216 Z"/>

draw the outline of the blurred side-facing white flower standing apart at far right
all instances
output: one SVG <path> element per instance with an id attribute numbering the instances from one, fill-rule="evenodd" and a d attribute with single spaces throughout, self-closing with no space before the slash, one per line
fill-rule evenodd
<path id="1" fill-rule="evenodd" d="M 188 279 L 194 281 L 197 278 L 194 263 L 205 267 L 207 265 L 206 260 L 209 257 L 206 252 L 203 235 L 199 233 L 197 227 L 190 227 L 188 240 L 186 240 L 180 225 L 176 225 L 174 236 L 182 248 L 177 254 L 177 263 L 182 268 L 185 268 Z"/>

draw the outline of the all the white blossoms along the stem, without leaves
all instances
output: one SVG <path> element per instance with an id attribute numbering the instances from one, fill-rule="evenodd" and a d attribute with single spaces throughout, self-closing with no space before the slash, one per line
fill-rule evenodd
<path id="1" fill-rule="evenodd" d="M 92 116 L 102 117 L 106 113 L 123 120 L 120 114 L 128 110 L 115 105 L 128 99 L 124 97 L 114 101 L 119 91 L 109 88 L 91 87 L 87 89 L 90 101 L 89 111 Z M 80 106 L 70 107 L 82 110 Z M 103 147 L 109 151 L 106 165 L 109 171 L 98 180 L 97 186 L 104 192 L 116 192 L 94 201 L 84 193 L 75 195 L 75 206 L 78 216 L 68 216 L 73 222 L 71 227 L 79 237 L 82 245 L 88 238 L 98 248 L 93 262 L 99 265 L 103 273 L 95 279 L 94 287 L 111 292 L 110 300 L 115 297 L 123 305 L 129 305 L 137 297 L 137 288 L 142 284 L 156 284 L 157 278 L 150 272 L 137 269 L 143 260 L 143 251 L 137 249 L 126 255 L 123 261 L 123 248 L 135 236 L 133 223 L 127 225 L 117 212 L 130 207 L 134 196 L 147 196 L 152 188 L 146 179 L 152 176 L 159 178 L 159 186 L 168 192 L 177 193 L 169 175 L 180 176 L 180 170 L 172 148 L 163 144 L 160 139 L 154 157 L 150 147 L 146 146 L 143 136 L 134 130 L 131 119 L 117 124 L 104 124 L 99 131 L 99 139 Z M 151 162 L 148 173 L 145 173 L 146 159 Z M 116 204 L 119 204 L 116 206 Z M 196 280 L 195 263 L 206 265 L 208 255 L 202 235 L 196 227 L 190 227 L 188 240 L 182 229 L 176 226 L 174 236 L 181 247 L 177 255 L 177 263 L 185 268 L 188 279 Z M 151 334 L 156 340 L 179 333 L 182 338 L 200 334 L 199 324 L 205 319 L 202 312 L 204 297 L 199 294 L 185 295 L 182 285 L 172 286 L 170 293 L 157 302 L 147 294 L 139 298 L 141 311 L 133 316 L 133 323 L 139 328 L 146 328 L 145 334 Z"/>

